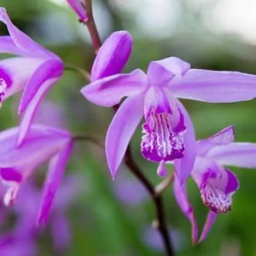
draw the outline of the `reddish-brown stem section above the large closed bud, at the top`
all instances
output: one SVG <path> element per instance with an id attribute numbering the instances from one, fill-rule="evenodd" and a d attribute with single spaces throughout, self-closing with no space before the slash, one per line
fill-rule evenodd
<path id="1" fill-rule="evenodd" d="M 85 4 L 86 14 L 87 14 L 88 19 L 86 21 L 84 21 L 83 23 L 86 25 L 86 27 L 89 31 L 89 34 L 92 39 L 94 51 L 97 54 L 100 49 L 101 42 L 100 42 L 100 36 L 99 36 L 98 30 L 97 30 L 97 27 L 96 27 L 96 24 L 95 24 L 94 18 L 93 18 L 92 0 L 84 0 L 84 4 Z"/>

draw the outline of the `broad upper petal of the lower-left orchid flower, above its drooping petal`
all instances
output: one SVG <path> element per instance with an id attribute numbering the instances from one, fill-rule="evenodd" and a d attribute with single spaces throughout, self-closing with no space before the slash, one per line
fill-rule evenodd
<path id="1" fill-rule="evenodd" d="M 52 129 L 44 125 L 33 125 L 26 141 L 17 148 L 17 131 L 1 132 L 0 134 L 0 166 L 1 168 L 22 166 L 33 169 L 60 150 L 70 139 L 68 132 Z M 22 170 L 20 170 L 22 172 Z"/>

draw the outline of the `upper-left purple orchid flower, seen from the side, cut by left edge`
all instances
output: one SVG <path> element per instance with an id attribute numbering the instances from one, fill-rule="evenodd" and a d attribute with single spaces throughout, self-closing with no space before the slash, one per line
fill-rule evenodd
<path id="1" fill-rule="evenodd" d="M 4 8 L 0 8 L 0 20 L 10 33 L 0 36 L 0 52 L 19 56 L 0 61 L 0 104 L 24 89 L 19 106 L 19 113 L 24 112 L 17 138 L 20 145 L 42 98 L 63 74 L 63 61 L 13 25 Z"/>

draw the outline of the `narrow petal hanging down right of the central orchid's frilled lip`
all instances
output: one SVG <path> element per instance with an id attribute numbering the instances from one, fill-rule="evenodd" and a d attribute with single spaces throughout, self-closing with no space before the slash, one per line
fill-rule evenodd
<path id="1" fill-rule="evenodd" d="M 184 106 L 177 100 L 178 107 L 184 115 L 186 132 L 184 134 L 184 143 L 186 145 L 184 157 L 174 160 L 175 173 L 177 174 L 180 184 L 185 182 L 193 170 L 196 157 L 196 138 L 193 123 Z"/>

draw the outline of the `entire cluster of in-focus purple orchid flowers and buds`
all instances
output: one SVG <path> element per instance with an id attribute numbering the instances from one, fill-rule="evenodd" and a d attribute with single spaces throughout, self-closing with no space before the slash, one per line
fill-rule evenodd
<path id="1" fill-rule="evenodd" d="M 86 23 L 86 6 L 81 1 L 68 0 L 68 3 L 79 19 Z M 49 161 L 39 210 L 36 211 L 37 222 L 45 224 L 50 218 L 54 196 L 72 152 L 74 136 L 70 131 L 33 122 L 45 94 L 61 78 L 64 65 L 56 54 L 20 31 L 4 8 L 0 8 L 0 20 L 6 24 L 10 34 L 0 36 L 0 52 L 15 55 L 0 61 L 0 104 L 2 106 L 4 100 L 22 90 L 18 112 L 24 113 L 19 127 L 0 132 L 0 177 L 3 185 L 8 187 L 3 202 L 14 205 L 22 189 L 27 189 L 25 194 L 28 196 L 36 194 L 38 202 L 37 192 L 34 193 L 35 188 L 29 182 L 23 188 L 20 186 Z M 210 138 L 196 141 L 193 122 L 179 99 L 212 103 L 252 100 L 256 97 L 256 76 L 195 69 L 177 57 L 151 61 L 146 73 L 136 69 L 121 74 L 131 51 L 132 36 L 127 31 L 112 33 L 93 62 L 90 84 L 81 89 L 84 97 L 93 104 L 118 106 L 106 134 L 109 170 L 115 178 L 132 136 L 143 119 L 141 155 L 159 164 L 156 172 L 160 177 L 168 172 L 166 164 L 173 164 L 175 198 L 192 224 L 193 243 L 203 241 L 216 215 L 230 211 L 232 195 L 239 188 L 236 175 L 224 166 L 255 168 L 256 145 L 234 142 L 232 126 Z M 124 97 L 126 99 L 122 101 Z M 190 176 L 200 190 L 202 201 L 209 207 L 199 239 L 186 190 Z M 33 200 L 29 198 L 29 202 Z M 61 223 L 60 226 L 65 227 L 64 222 L 63 216 L 58 216 L 55 224 Z M 10 237 L 14 239 L 16 235 Z M 8 239 L 0 243 L 0 250 L 3 244 L 9 243 Z M 21 237 L 19 239 L 15 238 L 15 246 L 23 243 Z"/>

